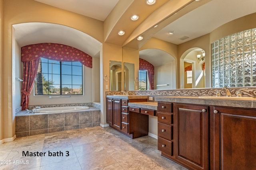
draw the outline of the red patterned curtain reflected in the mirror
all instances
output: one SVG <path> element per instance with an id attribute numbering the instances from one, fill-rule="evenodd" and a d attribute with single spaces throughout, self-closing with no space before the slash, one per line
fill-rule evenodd
<path id="1" fill-rule="evenodd" d="M 139 70 L 148 71 L 148 82 L 150 90 L 154 90 L 154 66 L 144 59 L 140 59 Z"/>

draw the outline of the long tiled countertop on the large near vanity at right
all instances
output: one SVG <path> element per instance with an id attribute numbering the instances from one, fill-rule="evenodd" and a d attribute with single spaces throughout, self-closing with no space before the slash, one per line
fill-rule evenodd
<path id="1" fill-rule="evenodd" d="M 231 107 L 243 107 L 243 108 L 256 108 L 256 98 L 247 97 L 212 97 L 204 98 L 204 96 L 164 96 L 156 97 L 158 102 L 175 102 L 175 103 L 187 103 L 187 104 L 202 104 L 213 106 L 231 106 Z"/>

